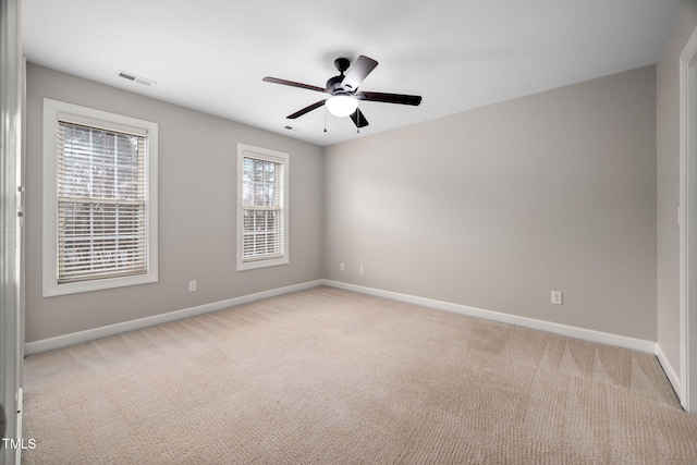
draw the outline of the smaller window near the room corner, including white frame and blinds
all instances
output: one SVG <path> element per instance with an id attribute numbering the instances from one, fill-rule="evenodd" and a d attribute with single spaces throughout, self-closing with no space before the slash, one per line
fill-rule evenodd
<path id="1" fill-rule="evenodd" d="M 289 262 L 289 156 L 237 144 L 237 271 Z"/>

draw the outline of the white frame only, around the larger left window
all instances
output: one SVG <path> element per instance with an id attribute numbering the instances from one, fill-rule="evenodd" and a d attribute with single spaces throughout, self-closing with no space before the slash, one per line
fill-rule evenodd
<path id="1" fill-rule="evenodd" d="M 147 270 L 144 274 L 58 282 L 58 122 L 72 122 L 111 131 L 147 133 Z M 158 124 L 49 98 L 44 99 L 44 296 L 73 294 L 158 281 Z"/>

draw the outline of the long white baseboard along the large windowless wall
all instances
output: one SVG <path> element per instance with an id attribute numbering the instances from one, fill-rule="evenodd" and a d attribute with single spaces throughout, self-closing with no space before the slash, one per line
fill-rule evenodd
<path id="1" fill-rule="evenodd" d="M 322 280 L 322 284 L 346 291 L 359 292 L 362 294 L 375 295 L 378 297 L 391 298 L 393 301 L 406 302 L 425 307 L 437 308 L 439 310 L 452 311 L 470 317 L 485 318 L 488 320 L 501 321 L 517 325 L 525 328 L 547 331 L 554 334 L 567 335 L 601 344 L 615 345 L 619 347 L 632 348 L 634 351 L 647 352 L 656 355 L 656 342 L 641 339 L 627 338 L 625 335 L 612 334 L 608 332 L 595 331 L 591 329 L 577 328 L 550 321 L 536 320 L 533 318 L 519 317 L 516 315 L 502 314 L 499 311 L 485 310 L 482 308 L 469 307 L 466 305 L 452 304 L 450 302 L 435 301 L 431 298 L 417 297 L 408 294 L 401 294 L 391 291 L 382 291 L 374 287 L 365 287 L 356 284 L 348 284 L 340 281 Z"/>

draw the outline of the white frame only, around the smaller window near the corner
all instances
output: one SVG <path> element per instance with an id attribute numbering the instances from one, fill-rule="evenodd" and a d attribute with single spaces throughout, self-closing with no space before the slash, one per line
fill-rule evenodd
<path id="1" fill-rule="evenodd" d="M 282 241 L 283 255 L 277 258 L 256 258 L 247 261 L 244 259 L 244 206 L 243 206 L 243 188 L 244 188 L 244 159 L 254 158 L 257 160 L 271 161 L 283 164 L 283 199 L 282 199 Z M 274 267 L 286 265 L 290 262 L 289 256 L 289 178 L 290 178 L 290 157 L 288 154 L 268 148 L 255 147 L 246 144 L 237 144 L 237 271 L 252 270 L 265 267 Z"/>

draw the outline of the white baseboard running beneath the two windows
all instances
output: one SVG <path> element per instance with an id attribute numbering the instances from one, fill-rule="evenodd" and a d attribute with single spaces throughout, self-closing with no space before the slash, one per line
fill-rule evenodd
<path id="1" fill-rule="evenodd" d="M 93 341 L 95 339 L 106 338 L 108 335 L 114 335 L 155 325 L 181 320 L 182 318 L 194 317 L 196 315 L 208 314 L 210 311 L 223 310 L 236 305 L 248 304 L 249 302 L 260 301 L 262 298 L 276 297 L 277 295 L 303 291 L 305 289 L 316 287 L 321 284 L 322 280 L 307 281 L 301 284 L 293 284 L 285 287 L 258 292 L 255 294 L 242 295 L 240 297 L 213 302 L 210 304 L 199 305 L 197 307 L 184 308 L 182 310 L 169 311 L 167 314 L 154 315 L 151 317 L 139 318 L 137 320 L 124 321 L 121 323 L 88 329 L 85 331 L 73 332 L 64 335 L 58 335 L 56 338 L 27 342 L 26 344 L 24 344 L 24 355 L 27 356 L 37 354 L 39 352 L 52 351 L 54 348 L 65 347 L 69 345 L 78 344 L 81 342 Z"/>

